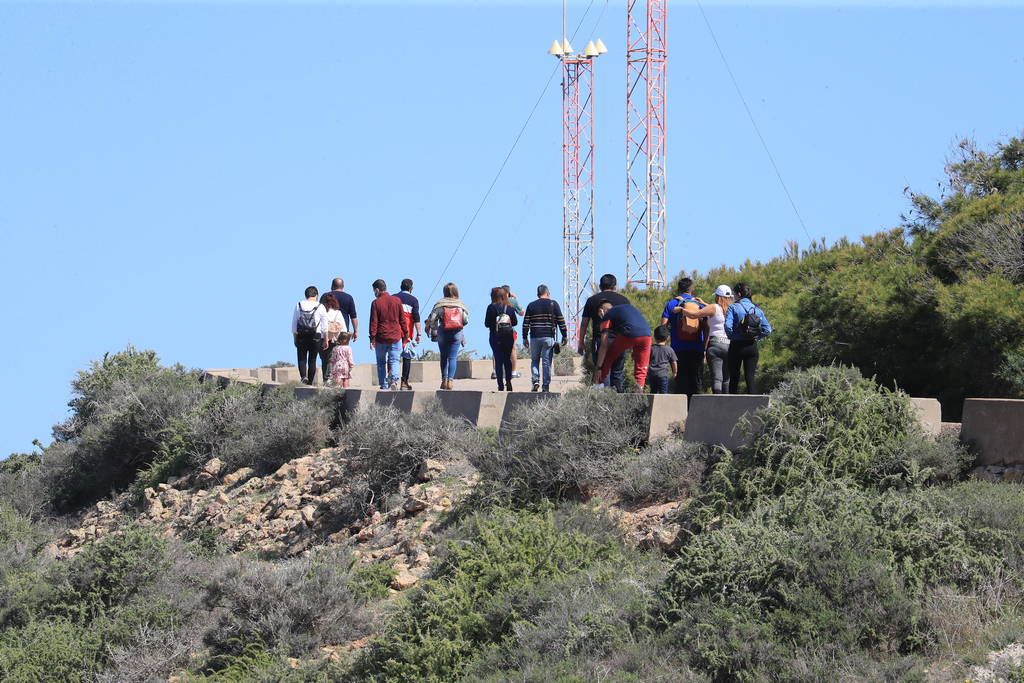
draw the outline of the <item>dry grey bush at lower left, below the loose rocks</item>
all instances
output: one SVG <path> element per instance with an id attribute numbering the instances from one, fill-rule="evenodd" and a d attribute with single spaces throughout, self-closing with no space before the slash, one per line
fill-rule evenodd
<path id="1" fill-rule="evenodd" d="M 301 656 L 364 635 L 368 618 L 350 567 L 347 556 L 330 550 L 280 562 L 226 558 L 205 596 L 219 614 L 206 636 L 212 653 L 234 656 L 256 645 Z"/>

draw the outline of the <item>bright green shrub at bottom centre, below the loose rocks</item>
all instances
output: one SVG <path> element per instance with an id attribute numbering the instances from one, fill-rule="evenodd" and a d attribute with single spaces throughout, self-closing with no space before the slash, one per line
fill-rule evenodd
<path id="1" fill-rule="evenodd" d="M 415 590 L 356 661 L 367 681 L 446 681 L 509 637 L 539 585 L 622 558 L 604 522 L 493 510 L 465 522 L 432 580 Z M 592 529 L 585 532 L 584 528 Z M 603 528 L 599 535 L 594 529 Z"/>

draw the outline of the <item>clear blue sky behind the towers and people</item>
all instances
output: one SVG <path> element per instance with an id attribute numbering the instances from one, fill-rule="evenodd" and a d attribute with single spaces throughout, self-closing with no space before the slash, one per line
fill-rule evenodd
<path id="1" fill-rule="evenodd" d="M 934 190 L 957 137 L 1024 124 L 1024 3 L 898 5 L 705 1 L 814 237 L 896 225 L 903 188 Z M 570 27 L 587 10 L 572 3 Z M 625 261 L 625 11 L 595 0 L 574 41 L 609 49 L 599 273 Z M 104 351 L 294 360 L 308 284 L 343 275 L 364 325 L 376 278 L 426 299 L 548 81 L 560 13 L 0 2 L 0 457 L 49 440 L 75 371 Z M 694 1 L 672 3 L 670 54 L 670 271 L 806 244 Z M 445 275 L 481 352 L 492 285 L 560 296 L 559 112 L 556 78 Z"/>

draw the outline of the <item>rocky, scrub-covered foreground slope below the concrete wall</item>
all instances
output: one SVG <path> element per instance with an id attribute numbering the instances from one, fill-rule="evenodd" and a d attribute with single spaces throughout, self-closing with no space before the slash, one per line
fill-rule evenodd
<path id="1" fill-rule="evenodd" d="M 134 350 L 74 390 L 0 465 L 5 681 L 1024 675 L 1024 489 L 856 371 L 735 453 L 590 388 L 500 434 Z"/>

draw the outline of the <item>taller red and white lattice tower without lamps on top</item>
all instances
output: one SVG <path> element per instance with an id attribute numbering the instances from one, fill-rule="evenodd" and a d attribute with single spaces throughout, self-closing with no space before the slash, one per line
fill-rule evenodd
<path id="1" fill-rule="evenodd" d="M 627 0 L 626 282 L 665 287 L 669 0 Z"/>

